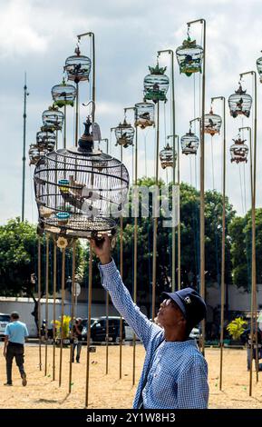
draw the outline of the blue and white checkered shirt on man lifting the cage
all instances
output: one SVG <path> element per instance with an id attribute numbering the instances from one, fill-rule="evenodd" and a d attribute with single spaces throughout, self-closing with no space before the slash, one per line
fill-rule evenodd
<path id="1" fill-rule="evenodd" d="M 133 408 L 205 409 L 209 402 L 208 364 L 195 340 L 166 342 L 160 326 L 133 303 L 114 261 L 99 265 L 112 303 L 143 343 L 146 356 Z"/>

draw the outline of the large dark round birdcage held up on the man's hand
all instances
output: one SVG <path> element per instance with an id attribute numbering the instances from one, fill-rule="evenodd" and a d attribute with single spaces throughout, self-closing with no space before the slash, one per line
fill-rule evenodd
<path id="1" fill-rule="evenodd" d="M 66 238 L 113 233 L 129 188 L 119 160 L 93 149 L 89 118 L 78 147 L 45 154 L 34 171 L 40 224 Z"/>

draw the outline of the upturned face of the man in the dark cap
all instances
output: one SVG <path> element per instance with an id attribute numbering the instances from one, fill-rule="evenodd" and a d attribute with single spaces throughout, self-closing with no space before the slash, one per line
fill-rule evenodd
<path id="1" fill-rule="evenodd" d="M 160 304 L 158 322 L 160 326 L 165 328 L 180 327 L 181 323 L 184 324 L 186 321 L 178 304 L 171 299 L 167 299 Z"/>

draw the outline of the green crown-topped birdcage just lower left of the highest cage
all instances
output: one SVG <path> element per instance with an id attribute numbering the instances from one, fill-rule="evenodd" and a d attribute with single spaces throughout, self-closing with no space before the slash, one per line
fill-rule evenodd
<path id="1" fill-rule="evenodd" d="M 169 90 L 170 79 L 165 74 L 167 67 L 160 67 L 157 63 L 156 66 L 149 66 L 150 74 L 144 78 L 144 97 L 153 103 L 159 101 L 167 101 L 166 94 Z"/>

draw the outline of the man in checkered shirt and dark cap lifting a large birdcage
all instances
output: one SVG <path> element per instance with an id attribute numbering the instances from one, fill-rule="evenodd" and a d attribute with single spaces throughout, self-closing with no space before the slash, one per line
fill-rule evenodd
<path id="1" fill-rule="evenodd" d="M 205 409 L 209 402 L 208 365 L 189 333 L 207 307 L 199 293 L 184 288 L 164 293 L 157 323 L 152 323 L 133 303 L 111 256 L 111 242 L 104 234 L 102 245 L 92 240 L 100 258 L 102 285 L 112 303 L 143 343 L 146 356 L 133 408 Z"/>

